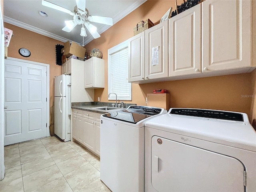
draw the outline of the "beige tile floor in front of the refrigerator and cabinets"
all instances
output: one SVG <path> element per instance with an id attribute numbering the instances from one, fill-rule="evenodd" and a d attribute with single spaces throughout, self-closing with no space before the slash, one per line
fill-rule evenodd
<path id="1" fill-rule="evenodd" d="M 110 192 L 100 158 L 55 136 L 5 146 L 4 165 L 1 192 Z"/>

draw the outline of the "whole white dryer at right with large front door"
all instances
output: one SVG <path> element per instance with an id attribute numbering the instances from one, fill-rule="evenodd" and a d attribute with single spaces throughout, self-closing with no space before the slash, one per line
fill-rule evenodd
<path id="1" fill-rule="evenodd" d="M 147 121 L 145 190 L 255 192 L 256 131 L 248 116 L 171 108 Z"/>

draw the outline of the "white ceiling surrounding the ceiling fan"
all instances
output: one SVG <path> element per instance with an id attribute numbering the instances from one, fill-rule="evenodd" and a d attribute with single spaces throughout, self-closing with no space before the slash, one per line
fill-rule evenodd
<path id="1" fill-rule="evenodd" d="M 54 4 L 74 11 L 76 0 L 48 0 Z M 90 15 L 112 17 L 114 24 L 142 5 L 146 0 L 86 0 L 86 8 Z M 42 17 L 38 11 L 48 14 Z M 62 31 L 65 20 L 72 20 L 70 14 L 42 6 L 41 0 L 4 0 L 4 22 L 28 29 L 30 31 L 60 40 L 62 42 L 74 41 L 82 45 L 80 36 L 82 25 L 76 26 L 70 33 Z M 93 23 L 99 34 L 110 28 L 109 25 Z M 84 45 L 93 40 L 86 29 Z M 15 32 L 14 32 L 15 35 Z"/>

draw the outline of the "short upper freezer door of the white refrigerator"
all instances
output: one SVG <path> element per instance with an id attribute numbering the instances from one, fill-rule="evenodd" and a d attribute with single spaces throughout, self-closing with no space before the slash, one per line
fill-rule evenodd
<path id="1" fill-rule="evenodd" d="M 55 97 L 65 97 L 67 88 L 66 75 L 60 75 L 54 78 Z"/>

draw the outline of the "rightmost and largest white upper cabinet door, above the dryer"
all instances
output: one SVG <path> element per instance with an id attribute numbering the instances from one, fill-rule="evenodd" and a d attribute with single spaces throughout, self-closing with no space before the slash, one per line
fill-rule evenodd
<path id="1" fill-rule="evenodd" d="M 251 65 L 252 1 L 202 3 L 202 72 Z"/>

